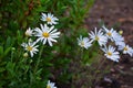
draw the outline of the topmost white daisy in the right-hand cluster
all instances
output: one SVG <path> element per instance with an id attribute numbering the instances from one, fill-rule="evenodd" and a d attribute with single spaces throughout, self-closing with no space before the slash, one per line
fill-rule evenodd
<path id="1" fill-rule="evenodd" d="M 104 29 L 105 35 L 108 36 L 108 38 L 110 38 L 112 42 L 114 42 L 114 37 L 116 37 L 115 36 L 116 31 L 114 31 L 113 29 L 108 30 L 104 25 L 102 28 Z"/>

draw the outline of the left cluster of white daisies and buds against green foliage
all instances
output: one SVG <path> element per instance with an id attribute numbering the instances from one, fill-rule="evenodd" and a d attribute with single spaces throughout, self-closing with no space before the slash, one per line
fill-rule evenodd
<path id="1" fill-rule="evenodd" d="M 30 53 L 30 56 L 33 57 L 33 55 L 37 54 L 37 52 L 39 52 L 39 50 L 37 48 L 39 47 L 39 45 L 37 45 L 39 42 L 42 42 L 43 45 L 48 43 L 50 46 L 53 46 L 52 43 L 57 42 L 55 38 L 59 37 L 60 32 L 58 32 L 58 30 L 54 29 L 54 25 L 58 24 L 59 19 L 51 13 L 42 13 L 41 21 L 43 21 L 44 24 L 40 24 L 40 28 L 35 28 L 33 30 L 29 28 L 25 31 L 25 36 L 34 36 L 37 38 L 35 41 L 29 38 L 27 43 L 21 44 L 21 46 L 23 46 L 24 51 L 27 52 L 23 56 L 28 56 L 25 54 Z"/>

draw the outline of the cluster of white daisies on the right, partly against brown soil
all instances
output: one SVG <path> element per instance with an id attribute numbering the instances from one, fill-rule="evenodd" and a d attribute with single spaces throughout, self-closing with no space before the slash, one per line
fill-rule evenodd
<path id="1" fill-rule="evenodd" d="M 91 31 L 91 33 L 89 33 L 89 37 L 82 37 L 80 35 L 78 44 L 88 50 L 93 42 L 98 42 L 100 48 L 105 53 L 106 58 L 114 62 L 119 62 L 120 53 L 133 56 L 133 48 L 125 44 L 124 37 L 114 29 L 109 30 L 103 25 L 102 29 L 98 31 L 95 28 L 94 32 Z"/>

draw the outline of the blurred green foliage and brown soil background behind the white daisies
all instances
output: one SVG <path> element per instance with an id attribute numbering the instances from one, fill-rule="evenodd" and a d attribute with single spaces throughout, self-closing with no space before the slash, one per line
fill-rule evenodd
<path id="1" fill-rule="evenodd" d="M 42 12 L 50 12 L 59 19 L 55 28 L 61 36 L 55 46 L 43 52 L 47 56 L 42 55 L 44 59 L 39 67 L 45 69 L 32 76 L 37 59 L 29 58 L 23 63 L 20 44 L 28 28 L 40 25 Z M 93 63 L 94 56 L 101 56 L 88 51 L 84 59 L 79 62 L 81 51 L 76 37 L 88 35 L 102 24 L 122 30 L 125 42 L 133 46 L 133 0 L 0 0 L 0 88 L 43 88 L 48 79 L 54 81 L 58 88 L 133 88 L 133 57 L 129 55 L 122 55 L 120 63 L 102 75 L 112 82 L 100 79 L 90 87 L 88 65 Z M 106 62 L 103 67 L 110 63 Z M 28 72 L 23 74 L 25 69 Z M 35 84 L 29 87 L 32 78 Z"/>

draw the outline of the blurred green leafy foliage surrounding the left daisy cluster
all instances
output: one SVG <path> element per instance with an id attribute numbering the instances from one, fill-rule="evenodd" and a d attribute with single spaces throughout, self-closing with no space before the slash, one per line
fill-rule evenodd
<path id="1" fill-rule="evenodd" d="M 76 37 L 86 35 L 84 19 L 94 0 L 1 0 L 0 1 L 0 88 L 44 88 L 48 79 L 58 85 L 71 84 L 71 62 L 79 59 Z M 38 69 L 38 57 L 23 57 L 24 32 L 41 23 L 41 13 L 59 18 L 59 43 L 44 47 Z M 91 51 L 90 51 L 91 52 Z M 83 61 L 91 62 L 89 53 Z M 95 54 L 94 54 L 95 55 Z"/>

